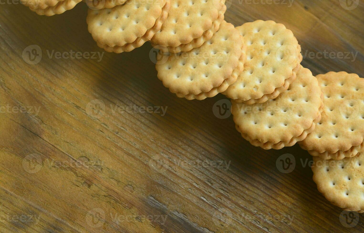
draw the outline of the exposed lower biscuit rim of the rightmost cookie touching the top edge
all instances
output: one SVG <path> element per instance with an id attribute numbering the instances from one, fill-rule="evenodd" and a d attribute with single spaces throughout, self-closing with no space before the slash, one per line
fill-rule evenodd
<path id="1" fill-rule="evenodd" d="M 223 6 L 226 10 L 226 6 L 225 5 L 223 5 Z M 213 36 L 213 34 L 219 30 L 220 24 L 224 20 L 225 10 L 219 11 L 218 19 L 212 23 L 212 26 L 209 30 L 206 30 L 205 32 L 203 32 L 202 36 L 193 39 L 191 42 L 189 42 L 187 44 L 181 44 L 177 47 L 171 47 L 171 46 L 164 47 L 163 45 L 156 45 L 156 44 L 152 44 L 152 45 L 157 49 L 167 49 L 171 53 L 188 52 L 194 48 L 198 48 L 203 43 L 210 40 L 211 37 Z"/>

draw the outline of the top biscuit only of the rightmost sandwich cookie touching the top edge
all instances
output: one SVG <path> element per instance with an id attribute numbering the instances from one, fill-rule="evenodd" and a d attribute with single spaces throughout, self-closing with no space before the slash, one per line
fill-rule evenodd
<path id="1" fill-rule="evenodd" d="M 219 11 L 225 13 L 224 3 L 225 0 L 171 0 L 169 17 L 151 42 L 164 47 L 190 43 L 211 28 Z"/>

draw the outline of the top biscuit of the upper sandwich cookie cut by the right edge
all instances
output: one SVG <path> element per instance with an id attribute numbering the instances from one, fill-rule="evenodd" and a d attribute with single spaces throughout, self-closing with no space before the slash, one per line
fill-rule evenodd
<path id="1" fill-rule="evenodd" d="M 323 117 L 302 146 L 329 154 L 359 146 L 364 139 L 364 79 L 346 72 L 329 72 L 317 79 L 324 93 Z"/>

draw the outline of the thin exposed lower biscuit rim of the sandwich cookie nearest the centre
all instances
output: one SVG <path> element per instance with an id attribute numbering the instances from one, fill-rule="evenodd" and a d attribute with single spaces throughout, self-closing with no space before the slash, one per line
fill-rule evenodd
<path id="1" fill-rule="evenodd" d="M 232 75 L 229 78 L 225 79 L 221 83 L 220 86 L 214 87 L 209 92 L 206 92 L 206 93 L 203 92 L 203 93 L 200 93 L 198 95 L 194 95 L 194 94 L 182 95 L 180 93 L 176 93 L 177 97 L 186 98 L 188 100 L 193 100 L 193 99 L 203 100 L 203 99 L 206 99 L 206 98 L 214 97 L 215 95 L 225 91 L 227 89 L 227 87 L 229 87 L 230 85 L 232 85 L 236 81 L 236 79 L 238 78 L 238 75 L 244 69 L 244 62 L 246 60 L 245 50 L 246 50 L 246 46 L 243 45 L 242 54 L 241 54 L 241 57 L 239 59 L 238 66 L 233 70 Z"/>

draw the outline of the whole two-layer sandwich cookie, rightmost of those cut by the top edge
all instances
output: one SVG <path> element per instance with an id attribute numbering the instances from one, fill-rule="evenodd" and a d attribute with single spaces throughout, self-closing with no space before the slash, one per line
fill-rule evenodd
<path id="1" fill-rule="evenodd" d="M 168 19 L 151 42 L 172 53 L 198 48 L 219 29 L 225 11 L 225 0 L 171 0 Z"/>

